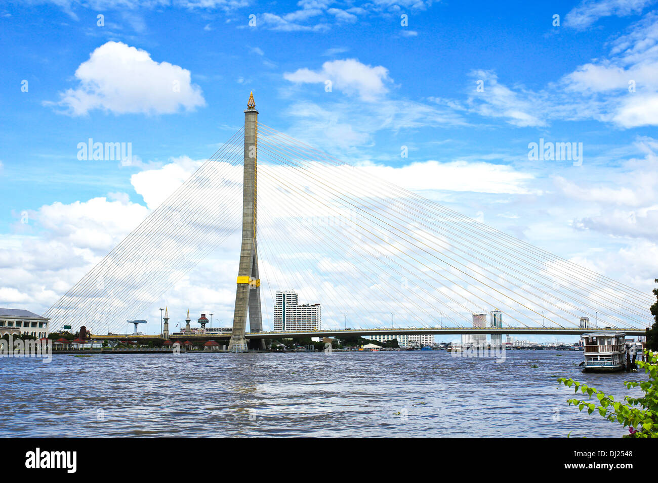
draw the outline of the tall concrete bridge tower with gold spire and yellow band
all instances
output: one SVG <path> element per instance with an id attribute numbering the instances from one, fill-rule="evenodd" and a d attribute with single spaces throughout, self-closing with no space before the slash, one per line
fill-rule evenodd
<path id="1" fill-rule="evenodd" d="M 258 111 L 249 94 L 245 113 L 244 185 L 242 193 L 242 248 L 238 268 L 236 310 L 233 314 L 233 333 L 228 350 L 247 350 L 245 329 L 247 310 L 251 332 L 263 330 L 261 319 L 261 280 L 258 276 L 258 254 L 256 251 L 256 187 L 258 167 Z M 263 346 L 263 341 L 259 343 Z"/>

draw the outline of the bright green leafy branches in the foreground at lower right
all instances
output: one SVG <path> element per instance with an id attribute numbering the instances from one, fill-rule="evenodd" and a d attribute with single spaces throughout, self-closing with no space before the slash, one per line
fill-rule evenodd
<path id="1" fill-rule="evenodd" d="M 639 369 L 649 374 L 649 380 L 646 382 L 626 381 L 626 388 L 635 388 L 640 386 L 644 397 L 631 398 L 624 397 L 624 402 L 615 401 L 613 396 L 607 396 L 603 392 L 586 386 L 581 382 L 573 379 L 558 379 L 560 384 L 573 387 L 577 393 L 579 390 L 583 394 L 588 394 L 588 400 L 570 399 L 567 400 L 569 405 L 577 405 L 582 411 L 587 408 L 588 414 L 599 411 L 602 417 L 608 421 L 617 421 L 622 427 L 628 426 L 628 433 L 624 438 L 658 438 L 658 357 L 653 352 L 647 351 L 647 361 L 637 361 Z M 592 396 L 596 396 L 599 404 L 590 402 Z"/>

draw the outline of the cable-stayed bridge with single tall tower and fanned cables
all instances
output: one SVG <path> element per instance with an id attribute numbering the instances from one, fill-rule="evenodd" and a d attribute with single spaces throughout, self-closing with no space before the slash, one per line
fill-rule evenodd
<path id="1" fill-rule="evenodd" d="M 218 252 L 236 296 L 209 302 L 234 305 L 234 350 L 258 339 L 263 319 L 273 327 L 276 291 L 290 288 L 322 304 L 332 334 L 347 314 L 365 333 L 393 321 L 472 329 L 472 314 L 493 310 L 505 333 L 582 333 L 581 317 L 629 333 L 651 323 L 649 294 L 320 152 L 258 114 L 250 97 L 245 127 L 45 313 L 53 330 L 116 332 Z"/>

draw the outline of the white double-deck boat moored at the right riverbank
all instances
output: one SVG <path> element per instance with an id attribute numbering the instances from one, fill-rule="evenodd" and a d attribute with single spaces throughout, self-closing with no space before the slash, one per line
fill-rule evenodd
<path id="1" fill-rule="evenodd" d="M 626 368 L 626 334 L 594 332 L 582 334 L 586 373 L 615 373 Z"/>

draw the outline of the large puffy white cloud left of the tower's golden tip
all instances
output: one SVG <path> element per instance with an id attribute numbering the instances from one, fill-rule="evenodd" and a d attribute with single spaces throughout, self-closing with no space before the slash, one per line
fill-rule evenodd
<path id="1" fill-rule="evenodd" d="M 141 49 L 109 41 L 91 53 L 75 72 L 75 89 L 47 103 L 74 116 L 92 110 L 113 114 L 171 114 L 205 106 L 201 88 L 191 74 L 169 62 L 157 62 Z"/>

